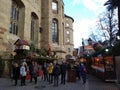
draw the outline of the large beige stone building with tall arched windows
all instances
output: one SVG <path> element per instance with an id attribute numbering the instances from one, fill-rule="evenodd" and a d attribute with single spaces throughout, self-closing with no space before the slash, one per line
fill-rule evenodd
<path id="1" fill-rule="evenodd" d="M 18 39 L 58 58 L 72 55 L 73 22 L 62 0 L 0 0 L 0 56 L 13 54 Z"/>

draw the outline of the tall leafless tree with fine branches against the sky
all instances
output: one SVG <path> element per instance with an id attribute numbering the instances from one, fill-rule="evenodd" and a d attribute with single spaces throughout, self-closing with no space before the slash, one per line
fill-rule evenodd
<path id="1" fill-rule="evenodd" d="M 102 37 L 104 37 L 105 40 L 109 40 L 109 45 L 111 45 L 118 32 L 118 21 L 116 20 L 116 16 L 111 11 L 100 14 L 97 27 L 98 30 L 102 31 Z"/>

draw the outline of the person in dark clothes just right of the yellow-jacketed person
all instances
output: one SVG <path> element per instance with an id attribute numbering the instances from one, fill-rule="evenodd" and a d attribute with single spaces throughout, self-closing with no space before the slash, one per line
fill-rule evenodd
<path id="1" fill-rule="evenodd" d="M 60 75 L 60 66 L 58 63 L 56 63 L 53 68 L 53 75 L 54 75 L 54 86 L 58 86 L 59 75 Z"/>

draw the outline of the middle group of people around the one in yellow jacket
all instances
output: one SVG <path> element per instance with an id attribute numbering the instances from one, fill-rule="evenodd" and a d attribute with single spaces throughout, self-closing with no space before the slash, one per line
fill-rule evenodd
<path id="1" fill-rule="evenodd" d="M 65 84 L 66 82 L 66 72 L 67 65 L 62 62 L 62 64 L 58 63 L 46 63 L 43 64 L 43 80 L 48 81 L 49 84 L 54 84 L 54 86 L 58 86 L 59 84 L 59 76 L 61 75 L 61 84 Z"/>

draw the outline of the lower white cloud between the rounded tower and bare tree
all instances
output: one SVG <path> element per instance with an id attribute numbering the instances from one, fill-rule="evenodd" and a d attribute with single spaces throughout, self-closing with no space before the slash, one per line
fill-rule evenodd
<path id="1" fill-rule="evenodd" d="M 89 29 L 94 24 L 94 20 L 83 19 L 74 22 L 74 47 L 78 48 L 82 43 L 82 38 L 89 38 Z"/>

